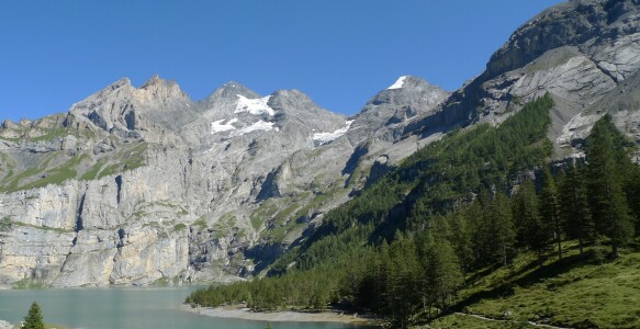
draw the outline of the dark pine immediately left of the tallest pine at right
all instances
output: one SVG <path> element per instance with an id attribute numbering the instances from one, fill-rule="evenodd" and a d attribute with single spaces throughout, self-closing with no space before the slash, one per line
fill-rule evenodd
<path id="1" fill-rule="evenodd" d="M 595 237 L 584 175 L 584 170 L 571 166 L 559 186 L 560 217 L 566 235 L 577 239 L 581 254 L 584 245 Z"/>

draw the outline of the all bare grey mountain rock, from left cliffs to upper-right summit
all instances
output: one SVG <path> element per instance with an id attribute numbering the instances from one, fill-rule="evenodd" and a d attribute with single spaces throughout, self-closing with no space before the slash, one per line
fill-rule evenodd
<path id="1" fill-rule="evenodd" d="M 555 156 L 604 113 L 640 141 L 640 3 L 558 4 L 453 93 L 401 77 L 352 117 L 297 90 L 228 82 L 193 101 L 127 79 L 0 127 L 0 285 L 178 284 L 255 275 L 328 209 L 456 127 L 544 93 Z"/>

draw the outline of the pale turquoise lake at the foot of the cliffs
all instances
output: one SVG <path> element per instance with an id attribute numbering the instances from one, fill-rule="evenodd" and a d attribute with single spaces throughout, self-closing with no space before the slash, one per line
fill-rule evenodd
<path id="1" fill-rule="evenodd" d="M 0 319 L 19 324 L 31 303 L 40 304 L 46 322 L 68 328 L 233 328 L 265 329 L 268 322 L 222 319 L 182 310 L 195 286 L 52 288 L 0 291 Z M 274 329 L 367 328 L 330 322 L 271 322 Z"/>

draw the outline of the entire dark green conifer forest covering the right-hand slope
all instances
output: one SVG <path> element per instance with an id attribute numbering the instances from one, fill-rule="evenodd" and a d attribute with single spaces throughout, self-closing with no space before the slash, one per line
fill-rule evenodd
<path id="1" fill-rule="evenodd" d="M 551 166 L 552 106 L 546 95 L 497 127 L 449 133 L 328 212 L 267 277 L 211 286 L 187 303 L 332 305 L 405 328 L 465 309 L 483 296 L 479 282 L 505 269 L 520 275 L 523 259 L 530 261 L 521 271 L 535 272 L 619 258 L 640 231 L 635 144 L 605 115 L 585 141 L 586 159 Z"/>

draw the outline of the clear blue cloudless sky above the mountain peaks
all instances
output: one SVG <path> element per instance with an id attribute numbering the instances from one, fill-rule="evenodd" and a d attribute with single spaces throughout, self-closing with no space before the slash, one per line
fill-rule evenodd
<path id="1" fill-rule="evenodd" d="M 447 90 L 560 0 L 0 1 L 0 120 L 37 118 L 128 77 L 194 100 L 235 80 L 357 113 L 400 76 Z"/>

